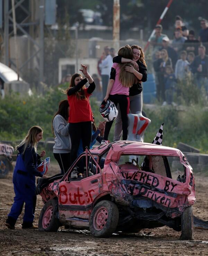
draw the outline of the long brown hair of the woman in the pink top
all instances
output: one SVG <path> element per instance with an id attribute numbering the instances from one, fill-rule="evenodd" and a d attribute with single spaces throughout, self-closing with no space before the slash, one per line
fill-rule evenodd
<path id="1" fill-rule="evenodd" d="M 118 55 L 122 56 L 126 59 L 133 58 L 133 53 L 130 45 L 125 45 L 121 47 L 118 51 Z M 125 71 L 125 66 L 132 66 L 131 63 L 119 63 L 120 65 L 120 73 L 119 73 L 119 80 L 124 87 L 131 87 L 136 82 L 136 77 L 133 73 Z"/>

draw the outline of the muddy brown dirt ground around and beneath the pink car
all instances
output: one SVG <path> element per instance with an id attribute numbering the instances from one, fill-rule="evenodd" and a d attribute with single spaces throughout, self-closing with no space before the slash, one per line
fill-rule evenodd
<path id="1" fill-rule="evenodd" d="M 51 176 L 58 173 L 55 164 L 50 166 Z M 208 186 L 207 177 L 195 174 L 197 202 L 194 215 L 208 220 Z M 39 232 L 23 230 L 21 215 L 15 230 L 5 226 L 7 214 L 14 198 L 12 172 L 6 179 L 0 179 L 0 255 L 18 256 L 136 256 L 136 255 L 208 255 L 208 230 L 194 228 L 195 241 L 180 241 L 180 232 L 168 227 L 142 230 L 136 234 L 113 234 L 111 238 L 95 238 L 89 231 L 67 230 L 59 228 L 58 232 Z M 43 203 L 37 198 L 34 224 Z"/>

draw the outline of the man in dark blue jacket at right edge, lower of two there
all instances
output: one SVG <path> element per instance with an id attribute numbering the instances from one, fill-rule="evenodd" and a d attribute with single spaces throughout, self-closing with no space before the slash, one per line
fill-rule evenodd
<path id="1" fill-rule="evenodd" d="M 205 46 L 199 46 L 198 53 L 199 55 L 195 57 L 190 68 L 196 74 L 199 89 L 201 89 L 201 86 L 204 86 L 208 93 L 208 55 L 205 54 Z"/>

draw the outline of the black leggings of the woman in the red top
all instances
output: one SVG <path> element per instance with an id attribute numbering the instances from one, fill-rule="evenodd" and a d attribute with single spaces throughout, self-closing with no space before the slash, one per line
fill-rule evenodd
<path id="1" fill-rule="evenodd" d="M 70 164 L 77 159 L 77 151 L 80 139 L 83 142 L 83 151 L 90 146 L 92 140 L 92 122 L 79 122 L 69 124 L 69 134 L 71 138 Z"/>

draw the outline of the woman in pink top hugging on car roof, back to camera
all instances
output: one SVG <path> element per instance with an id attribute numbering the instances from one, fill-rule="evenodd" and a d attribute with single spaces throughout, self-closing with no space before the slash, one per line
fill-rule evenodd
<path id="1" fill-rule="evenodd" d="M 129 45 L 121 47 L 118 51 L 118 55 L 126 59 L 132 59 L 133 53 Z M 122 119 L 122 131 L 123 131 L 123 140 L 127 140 L 128 137 L 128 117 L 129 113 L 129 87 L 135 83 L 137 79 L 133 73 L 127 72 L 125 70 L 126 66 L 131 66 L 131 63 L 113 63 L 111 68 L 110 81 L 107 86 L 106 96 L 103 100 L 103 104 L 107 99 L 114 102 L 115 106 L 120 106 L 121 110 L 121 119 Z M 108 136 L 111 130 L 113 121 L 107 122 L 105 125 L 104 138 L 102 145 L 108 143 Z"/>

